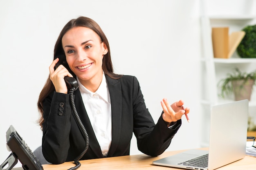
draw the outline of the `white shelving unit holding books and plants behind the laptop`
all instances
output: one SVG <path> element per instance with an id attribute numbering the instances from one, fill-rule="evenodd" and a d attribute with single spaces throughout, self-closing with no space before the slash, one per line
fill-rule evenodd
<path id="1" fill-rule="evenodd" d="M 202 120 L 204 120 L 204 129 L 209 129 L 211 107 L 213 105 L 222 105 L 225 103 L 234 102 L 232 96 L 229 98 L 221 98 L 218 93 L 220 89 L 218 82 L 221 78 L 225 77 L 225 74 L 229 73 L 234 67 L 241 69 L 242 71 L 254 70 L 256 68 L 256 58 L 240 58 L 237 51 L 229 59 L 214 58 L 213 43 L 212 43 L 212 28 L 214 27 L 228 27 L 229 34 L 241 31 L 248 25 L 256 23 L 255 5 L 256 0 L 239 0 L 234 2 L 225 2 L 220 9 L 216 7 L 216 11 L 213 11 L 213 4 L 218 2 L 208 0 L 201 0 L 202 2 L 202 15 L 201 15 L 201 31 L 202 31 L 202 97 L 200 104 L 202 106 Z M 221 1 L 219 1 L 221 2 Z M 212 4 L 213 3 L 213 4 Z M 236 7 L 236 9 L 231 9 Z M 209 10 L 211 8 L 211 10 Z M 227 10 L 226 10 L 227 9 Z M 218 11 L 217 11 L 218 10 Z M 239 11 L 236 11 L 239 10 Z M 216 13 L 217 12 L 217 13 Z M 209 13 L 211 15 L 209 15 Z M 234 95 L 233 95 L 234 96 Z M 250 116 L 256 124 L 256 98 L 255 91 L 253 92 L 252 99 L 249 101 Z M 205 133 L 206 131 L 202 131 Z M 208 134 L 209 135 L 209 134 Z M 203 136 L 201 140 L 202 146 L 206 146 L 209 139 Z"/>

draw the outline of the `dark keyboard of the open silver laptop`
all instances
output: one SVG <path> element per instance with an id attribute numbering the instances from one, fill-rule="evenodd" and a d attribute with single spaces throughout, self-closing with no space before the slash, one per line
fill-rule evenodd
<path id="1" fill-rule="evenodd" d="M 197 166 L 201 168 L 206 168 L 208 166 L 208 153 L 205 155 L 202 155 L 200 157 L 196 157 L 193 159 L 190 159 L 188 161 L 184 161 L 181 163 L 178 163 L 179 165 L 186 165 L 186 166 Z"/>

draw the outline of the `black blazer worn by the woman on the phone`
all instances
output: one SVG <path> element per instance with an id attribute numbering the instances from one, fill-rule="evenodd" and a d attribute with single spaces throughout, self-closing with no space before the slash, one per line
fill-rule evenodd
<path id="1" fill-rule="evenodd" d="M 181 120 L 169 129 L 161 115 L 155 125 L 135 76 L 119 79 L 106 76 L 106 80 L 112 109 L 112 143 L 107 157 L 129 155 L 132 132 L 142 153 L 151 156 L 162 154 L 180 128 Z M 81 160 L 103 158 L 79 89 L 74 92 L 74 98 L 90 141 Z M 74 161 L 85 148 L 85 137 L 70 106 L 69 94 L 52 92 L 43 101 L 43 110 L 42 150 L 45 159 L 54 164 Z"/>

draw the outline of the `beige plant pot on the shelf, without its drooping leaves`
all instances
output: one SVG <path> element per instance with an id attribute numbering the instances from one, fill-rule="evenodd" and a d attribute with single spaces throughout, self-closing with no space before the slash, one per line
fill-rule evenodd
<path id="1" fill-rule="evenodd" d="M 252 87 L 254 85 L 254 80 L 249 79 L 246 82 L 244 80 L 232 81 L 233 91 L 235 95 L 235 100 L 251 100 Z"/>

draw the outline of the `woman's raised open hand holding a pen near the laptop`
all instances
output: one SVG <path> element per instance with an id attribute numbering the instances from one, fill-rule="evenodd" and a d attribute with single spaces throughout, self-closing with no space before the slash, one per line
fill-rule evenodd
<path id="1" fill-rule="evenodd" d="M 189 113 L 189 108 L 186 107 L 183 109 L 184 102 L 183 100 L 179 100 L 177 102 L 174 102 L 172 105 L 169 105 L 166 98 L 164 98 L 161 101 L 161 105 L 163 108 L 163 119 L 165 122 L 177 122 L 177 120 L 180 120 L 182 118 L 182 115 L 185 113 Z"/>

